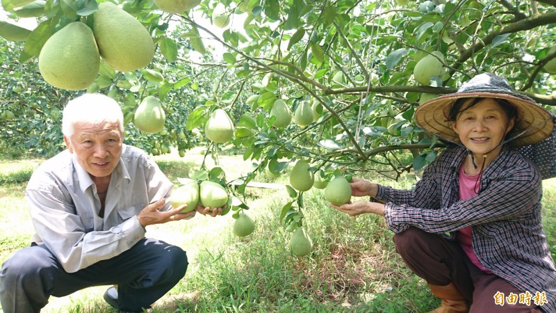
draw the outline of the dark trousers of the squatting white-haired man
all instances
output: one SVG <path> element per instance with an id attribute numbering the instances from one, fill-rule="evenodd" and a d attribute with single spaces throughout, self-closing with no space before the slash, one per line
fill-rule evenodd
<path id="1" fill-rule="evenodd" d="M 155 239 L 75 273 L 64 271 L 44 245 L 18 250 L 2 264 L 0 303 L 5 313 L 40 312 L 50 296 L 67 296 L 86 287 L 118 285 L 118 306 L 142 312 L 186 274 L 186 252 Z"/>

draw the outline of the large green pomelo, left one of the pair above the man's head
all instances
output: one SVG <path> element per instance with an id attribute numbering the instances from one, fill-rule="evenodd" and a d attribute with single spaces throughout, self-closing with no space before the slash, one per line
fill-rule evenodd
<path id="1" fill-rule="evenodd" d="M 99 74 L 99 49 L 91 29 L 81 23 L 67 24 L 40 50 L 39 71 L 56 88 L 82 90 Z"/>

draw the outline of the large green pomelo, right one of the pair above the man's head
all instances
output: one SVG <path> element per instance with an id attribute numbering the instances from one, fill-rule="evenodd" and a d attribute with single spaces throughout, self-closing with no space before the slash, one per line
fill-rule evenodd
<path id="1" fill-rule="evenodd" d="M 127 72 L 152 62 L 154 42 L 135 17 L 108 1 L 100 3 L 93 16 L 100 56 L 108 65 Z"/>

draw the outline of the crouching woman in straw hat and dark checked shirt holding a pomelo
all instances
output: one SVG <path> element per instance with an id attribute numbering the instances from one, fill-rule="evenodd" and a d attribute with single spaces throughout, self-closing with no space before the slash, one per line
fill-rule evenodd
<path id="1" fill-rule="evenodd" d="M 371 200 L 332 206 L 384 216 L 404 262 L 442 299 L 432 312 L 556 312 L 541 175 L 516 149 L 553 136 L 553 115 L 485 73 L 415 120 L 448 143 L 415 189 L 354 179 L 352 195 Z"/>

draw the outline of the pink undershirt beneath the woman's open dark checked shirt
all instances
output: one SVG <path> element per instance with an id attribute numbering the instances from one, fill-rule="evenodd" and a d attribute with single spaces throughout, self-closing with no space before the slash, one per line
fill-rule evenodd
<path id="1" fill-rule="evenodd" d="M 480 174 L 477 175 L 467 175 L 464 172 L 464 166 L 459 169 L 459 199 L 467 200 L 475 196 L 475 183 Z M 480 188 L 480 182 L 477 183 L 477 189 Z M 477 255 L 473 252 L 473 243 L 471 243 L 471 226 L 462 228 L 456 232 L 457 242 L 462 249 L 464 249 L 465 254 L 471 260 L 471 263 L 475 264 L 481 271 L 486 273 L 492 273 L 486 268 L 482 267 L 481 262 L 477 259 Z"/>

